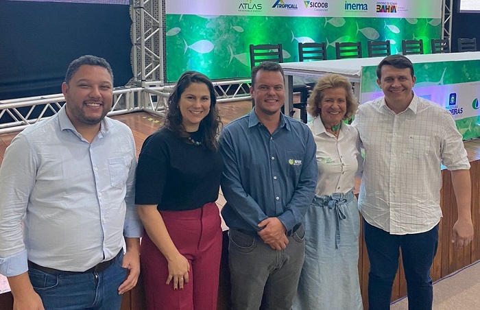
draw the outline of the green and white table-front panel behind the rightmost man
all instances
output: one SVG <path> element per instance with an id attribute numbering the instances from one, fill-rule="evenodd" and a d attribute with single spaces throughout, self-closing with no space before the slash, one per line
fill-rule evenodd
<path id="1" fill-rule="evenodd" d="M 464 140 L 480 136 L 480 60 L 414 63 L 413 91 L 449 110 Z M 383 96 L 376 66 L 361 71 L 360 102 Z"/>

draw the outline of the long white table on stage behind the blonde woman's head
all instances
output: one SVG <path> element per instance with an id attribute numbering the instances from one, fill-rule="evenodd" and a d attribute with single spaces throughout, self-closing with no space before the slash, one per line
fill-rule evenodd
<path id="1" fill-rule="evenodd" d="M 413 64 L 424 62 L 480 60 L 480 51 L 409 55 L 407 58 L 409 58 Z M 293 108 L 293 76 L 300 76 L 302 78 L 320 78 L 322 75 L 328 73 L 338 73 L 346 76 L 350 82 L 352 82 L 354 85 L 355 97 L 360 98 L 362 67 L 376 66 L 382 59 L 383 57 L 347 58 L 339 60 L 281 63 L 280 66 L 283 67 L 283 72 L 285 73 L 285 110 L 289 111 Z"/>

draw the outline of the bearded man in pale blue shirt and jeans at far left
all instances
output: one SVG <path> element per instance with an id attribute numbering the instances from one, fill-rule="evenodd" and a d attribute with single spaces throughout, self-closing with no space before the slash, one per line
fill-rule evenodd
<path id="1" fill-rule="evenodd" d="M 106 117 L 112 88 L 106 60 L 74 60 L 62 84 L 66 104 L 5 151 L 0 273 L 15 309 L 120 309 L 136 285 L 136 151 L 131 130 Z"/>

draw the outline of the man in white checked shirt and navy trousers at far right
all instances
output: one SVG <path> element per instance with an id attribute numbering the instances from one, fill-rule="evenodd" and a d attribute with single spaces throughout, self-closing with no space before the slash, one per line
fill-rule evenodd
<path id="1" fill-rule="evenodd" d="M 369 309 L 389 309 L 400 248 L 409 309 L 431 309 L 430 271 L 442 217 L 440 163 L 451 171 L 457 198 L 456 248 L 473 237 L 470 164 L 448 110 L 413 93 L 408 58 L 387 56 L 376 74 L 385 96 L 361 104 L 353 123 L 365 149 L 359 208 L 370 259 Z"/>

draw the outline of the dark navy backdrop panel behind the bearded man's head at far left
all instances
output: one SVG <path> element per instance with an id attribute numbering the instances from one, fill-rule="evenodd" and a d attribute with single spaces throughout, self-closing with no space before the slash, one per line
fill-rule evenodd
<path id="1" fill-rule="evenodd" d="M 0 99 L 61 93 L 69 63 L 90 54 L 132 78 L 129 5 L 0 0 Z"/>

